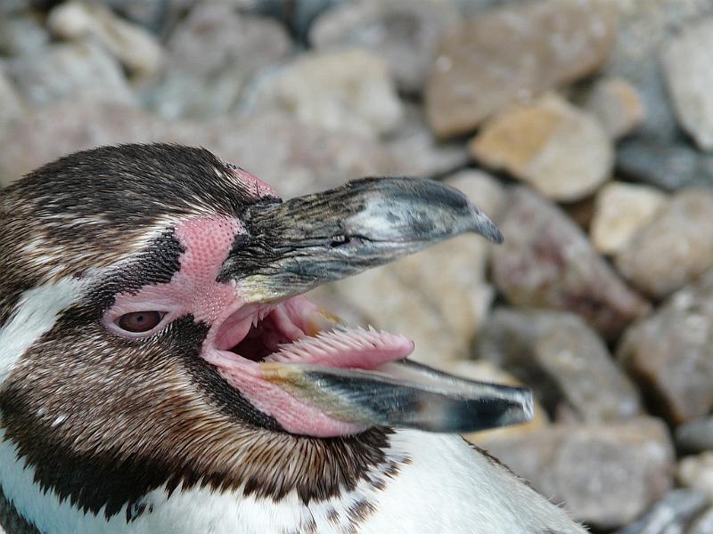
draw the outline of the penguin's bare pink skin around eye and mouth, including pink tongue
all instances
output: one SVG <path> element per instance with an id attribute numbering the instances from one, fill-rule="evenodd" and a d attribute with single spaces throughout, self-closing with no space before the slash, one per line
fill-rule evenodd
<path id="1" fill-rule="evenodd" d="M 244 173 L 242 170 L 236 173 Z M 250 174 L 246 180 L 252 179 Z M 257 178 L 255 179 L 257 181 Z M 258 191 L 272 191 L 264 182 L 255 182 Z M 176 225 L 176 239 L 184 247 L 180 269 L 166 284 L 142 287 L 135 294 L 117 295 L 103 323 L 111 332 L 129 338 L 154 336 L 178 317 L 191 314 L 209 325 L 201 348 L 201 357 L 217 368 L 228 384 L 238 389 L 255 408 L 274 417 L 289 433 L 331 437 L 364 430 L 363 426 L 330 417 L 316 406 L 308 405 L 263 378 L 260 363 L 242 358 L 231 349 L 248 336 L 254 321 L 266 320 L 276 334 L 294 344 L 276 349 L 266 360 L 286 363 L 312 363 L 337 368 L 376 368 L 383 363 L 405 358 L 413 343 L 402 336 L 373 333 L 371 341 L 352 346 L 341 344 L 340 334 L 332 332 L 330 344 L 314 343 L 310 349 L 307 332 L 314 328 L 318 309 L 303 296 L 281 303 L 245 304 L 234 281 L 218 282 L 234 238 L 244 233 L 242 223 L 223 216 L 195 217 Z M 148 332 L 130 333 L 117 325 L 128 312 L 165 313 L 159 325 Z M 370 336 L 372 336 L 370 334 Z M 328 339 L 325 337 L 324 339 Z M 302 339 L 302 342 L 298 340 Z"/>

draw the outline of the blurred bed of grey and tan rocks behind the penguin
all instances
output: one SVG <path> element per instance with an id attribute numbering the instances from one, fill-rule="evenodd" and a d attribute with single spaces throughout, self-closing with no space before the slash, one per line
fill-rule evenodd
<path id="1" fill-rule="evenodd" d="M 315 297 L 528 384 L 470 436 L 594 532 L 713 533 L 713 0 L 0 2 L 0 184 L 203 145 L 285 197 L 444 180 L 504 232 Z M 2 194 L 2 191 L 0 191 Z"/>

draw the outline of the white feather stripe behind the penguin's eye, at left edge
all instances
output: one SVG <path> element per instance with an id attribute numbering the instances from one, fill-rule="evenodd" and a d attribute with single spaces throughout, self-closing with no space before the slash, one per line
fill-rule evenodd
<path id="1" fill-rule="evenodd" d="M 22 293 L 11 319 L 0 328 L 0 383 L 20 356 L 53 328 L 61 311 L 78 302 L 83 288 L 81 281 L 68 277 Z"/>

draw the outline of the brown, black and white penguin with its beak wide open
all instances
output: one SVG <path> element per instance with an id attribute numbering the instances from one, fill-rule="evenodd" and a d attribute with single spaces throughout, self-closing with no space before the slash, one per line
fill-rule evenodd
<path id="1" fill-rule="evenodd" d="M 201 148 L 126 144 L 0 196 L 0 524 L 8 534 L 576 534 L 458 433 L 526 389 L 408 360 L 303 294 L 463 232 L 447 185 L 282 200 Z"/>

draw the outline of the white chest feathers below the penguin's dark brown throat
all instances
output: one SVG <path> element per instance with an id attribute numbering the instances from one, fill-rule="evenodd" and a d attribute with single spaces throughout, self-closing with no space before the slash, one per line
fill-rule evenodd
<path id="1" fill-rule="evenodd" d="M 240 492 L 163 489 L 143 499 L 143 514 L 85 514 L 33 482 L 33 468 L 0 444 L 5 497 L 44 534 L 575 534 L 560 508 L 539 497 L 460 438 L 414 431 L 392 436 L 389 457 L 411 461 L 374 487 L 363 482 L 339 498 L 305 506 L 291 494 L 275 503 Z M 373 473 L 379 478 L 380 473 Z M 381 473 L 383 475 L 383 473 Z"/>

